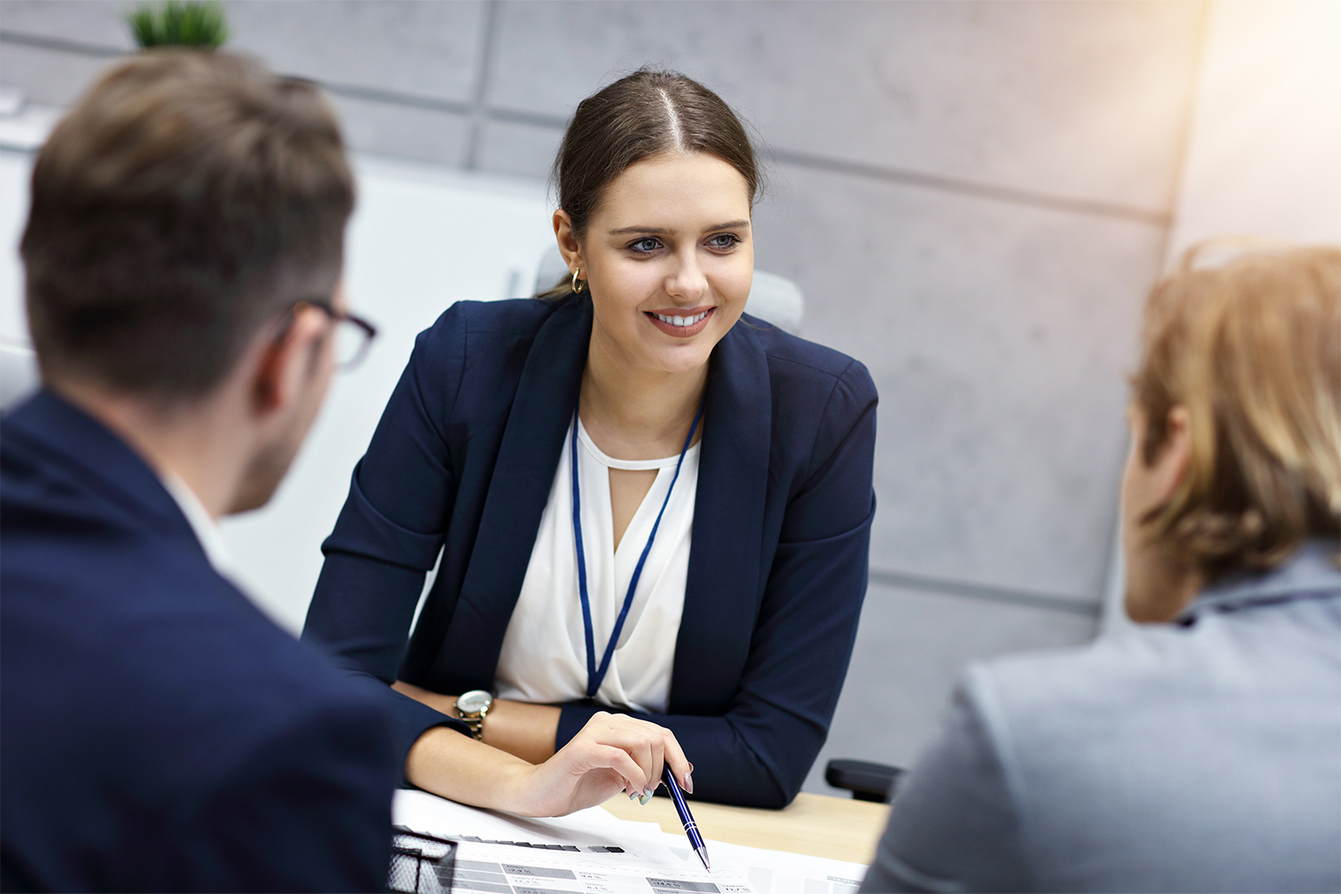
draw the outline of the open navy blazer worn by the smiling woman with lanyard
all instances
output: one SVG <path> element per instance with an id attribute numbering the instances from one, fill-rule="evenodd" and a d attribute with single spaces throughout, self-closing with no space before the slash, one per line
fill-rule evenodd
<path id="1" fill-rule="evenodd" d="M 304 637 L 384 682 L 493 688 L 590 332 L 590 299 L 567 298 L 463 302 L 420 334 L 322 547 Z M 823 744 L 866 590 L 874 441 L 876 387 L 852 358 L 748 316 L 713 350 L 669 710 L 644 716 L 675 732 L 699 797 L 782 807 Z M 443 720 L 401 709 L 402 730 Z M 563 705 L 555 747 L 599 709 Z"/>

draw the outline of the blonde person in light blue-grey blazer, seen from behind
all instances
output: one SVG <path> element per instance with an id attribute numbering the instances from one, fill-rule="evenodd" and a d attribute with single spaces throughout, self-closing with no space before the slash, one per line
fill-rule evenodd
<path id="1" fill-rule="evenodd" d="M 1341 890 L 1341 249 L 1151 295 L 1136 630 L 961 682 L 866 891 Z"/>

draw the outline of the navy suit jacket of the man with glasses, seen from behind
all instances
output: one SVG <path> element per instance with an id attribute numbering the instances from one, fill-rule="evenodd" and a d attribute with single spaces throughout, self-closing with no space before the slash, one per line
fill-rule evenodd
<path id="1" fill-rule="evenodd" d="M 389 700 L 263 617 L 47 391 L 4 420 L 0 541 L 0 887 L 384 889 Z"/>

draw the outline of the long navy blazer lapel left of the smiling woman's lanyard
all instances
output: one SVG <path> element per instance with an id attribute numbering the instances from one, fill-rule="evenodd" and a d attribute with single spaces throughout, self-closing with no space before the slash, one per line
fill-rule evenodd
<path id="1" fill-rule="evenodd" d="M 503 637 L 582 387 L 590 336 L 590 302 L 558 307 L 536 332 L 499 445 L 461 595 L 433 661 L 430 686 L 493 685 Z"/>

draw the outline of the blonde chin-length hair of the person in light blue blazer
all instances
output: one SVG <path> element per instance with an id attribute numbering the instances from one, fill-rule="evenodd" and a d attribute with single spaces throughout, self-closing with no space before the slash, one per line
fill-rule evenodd
<path id="1" fill-rule="evenodd" d="M 1204 249 L 1152 291 L 1132 387 L 1147 462 L 1187 407 L 1187 474 L 1145 524 L 1214 580 L 1341 536 L 1341 248 Z"/>

